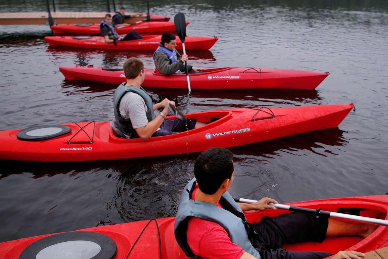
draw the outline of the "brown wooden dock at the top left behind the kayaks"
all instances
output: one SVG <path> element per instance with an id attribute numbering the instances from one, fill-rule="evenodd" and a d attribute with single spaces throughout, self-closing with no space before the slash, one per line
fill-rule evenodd
<path id="1" fill-rule="evenodd" d="M 51 12 L 54 24 L 69 23 L 100 23 L 107 12 Z M 114 13 L 110 13 L 113 15 Z M 126 23 L 135 23 L 147 18 L 147 14 L 140 17 L 125 19 Z M 16 24 L 49 24 L 48 12 L 3 12 L 0 13 L 0 25 Z"/>

